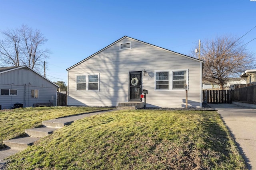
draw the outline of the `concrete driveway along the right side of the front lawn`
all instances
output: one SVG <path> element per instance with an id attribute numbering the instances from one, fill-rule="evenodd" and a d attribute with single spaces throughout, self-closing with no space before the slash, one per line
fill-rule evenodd
<path id="1" fill-rule="evenodd" d="M 256 109 L 234 104 L 208 104 L 220 113 L 249 170 L 256 170 Z"/>

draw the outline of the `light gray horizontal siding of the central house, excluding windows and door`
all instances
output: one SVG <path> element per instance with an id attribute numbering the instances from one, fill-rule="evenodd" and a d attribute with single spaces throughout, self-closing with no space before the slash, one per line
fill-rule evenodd
<path id="1" fill-rule="evenodd" d="M 119 43 L 128 41 L 132 41 L 132 49 L 119 50 Z M 157 70 L 182 69 L 188 70 L 188 106 L 202 106 L 201 62 L 127 38 L 68 70 L 68 105 L 118 106 L 128 102 L 129 72 L 144 69 L 147 74 L 142 74 L 142 89 L 149 91 L 147 107 L 185 107 L 185 90 L 155 90 Z M 76 76 L 92 74 L 100 74 L 99 92 L 76 90 Z"/>

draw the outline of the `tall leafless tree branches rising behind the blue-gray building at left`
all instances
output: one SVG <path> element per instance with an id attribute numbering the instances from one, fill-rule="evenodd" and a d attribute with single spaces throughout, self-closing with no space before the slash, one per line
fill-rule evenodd
<path id="1" fill-rule="evenodd" d="M 0 41 L 0 60 L 3 66 L 27 65 L 35 70 L 41 70 L 43 61 L 50 51 L 40 49 L 47 39 L 39 30 L 33 30 L 27 25 L 19 29 L 1 31 L 4 39 Z"/>

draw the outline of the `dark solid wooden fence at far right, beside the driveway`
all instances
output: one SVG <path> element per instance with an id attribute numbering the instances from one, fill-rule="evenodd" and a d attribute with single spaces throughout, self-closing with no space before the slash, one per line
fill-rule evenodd
<path id="1" fill-rule="evenodd" d="M 248 104 L 256 104 L 256 85 L 235 89 L 233 100 Z"/>

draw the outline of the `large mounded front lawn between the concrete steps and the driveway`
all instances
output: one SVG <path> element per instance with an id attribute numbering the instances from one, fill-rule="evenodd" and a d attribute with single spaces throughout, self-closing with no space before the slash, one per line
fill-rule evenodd
<path id="1" fill-rule="evenodd" d="M 246 169 L 216 111 L 121 110 L 94 115 L 8 159 L 8 169 L 28 170 Z"/>

